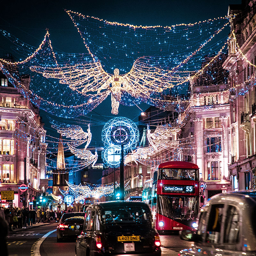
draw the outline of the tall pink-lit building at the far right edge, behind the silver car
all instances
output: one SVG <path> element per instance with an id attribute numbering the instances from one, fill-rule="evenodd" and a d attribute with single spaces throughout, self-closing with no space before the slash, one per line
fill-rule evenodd
<path id="1" fill-rule="evenodd" d="M 228 167 L 232 189 L 255 189 L 256 170 L 256 4 L 231 4 L 231 41 L 223 68 L 230 79 L 230 145 Z"/>

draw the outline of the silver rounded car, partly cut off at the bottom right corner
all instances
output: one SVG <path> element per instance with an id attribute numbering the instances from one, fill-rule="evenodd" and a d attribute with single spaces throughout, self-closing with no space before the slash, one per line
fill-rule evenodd
<path id="1" fill-rule="evenodd" d="M 196 226 L 195 232 L 180 231 L 180 238 L 194 245 L 178 255 L 256 256 L 256 191 L 212 196 Z"/>

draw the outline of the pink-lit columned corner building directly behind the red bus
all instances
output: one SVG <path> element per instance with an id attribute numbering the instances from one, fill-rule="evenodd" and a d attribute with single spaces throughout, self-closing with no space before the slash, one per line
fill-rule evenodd
<path id="1" fill-rule="evenodd" d="M 184 124 L 181 137 L 191 138 L 193 149 L 188 156 L 186 147 L 181 145 L 180 160 L 198 165 L 199 178 L 206 183 L 201 195 L 204 198 L 201 203 L 205 203 L 211 196 L 231 190 L 228 173 L 231 160 L 229 91 L 224 81 L 209 85 L 199 81 L 200 77 L 190 81 L 190 101 L 179 116 L 179 123 Z"/>

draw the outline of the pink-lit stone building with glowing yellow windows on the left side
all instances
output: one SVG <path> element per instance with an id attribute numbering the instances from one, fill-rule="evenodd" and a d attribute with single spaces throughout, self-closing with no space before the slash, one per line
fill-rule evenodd
<path id="1" fill-rule="evenodd" d="M 22 83 L 29 88 L 30 77 Z M 39 109 L 0 72 L 0 190 L 14 190 L 13 206 L 28 206 L 45 179 L 45 133 Z M 28 190 L 20 192 L 20 184 Z M 2 200 L 2 206 L 8 203 Z"/>

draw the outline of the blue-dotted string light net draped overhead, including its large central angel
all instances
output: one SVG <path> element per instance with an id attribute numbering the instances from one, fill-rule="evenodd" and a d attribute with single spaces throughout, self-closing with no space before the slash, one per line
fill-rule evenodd
<path id="1" fill-rule="evenodd" d="M 48 31 L 37 49 L 1 31 L 26 56 L 18 62 L 1 59 L 3 73 L 38 107 L 62 117 L 84 115 L 108 95 L 113 114 L 118 113 L 120 103 L 183 108 L 189 96 L 188 76 L 191 71 L 204 70 L 202 56 L 223 51 L 220 47 L 226 47 L 226 39 L 221 34 L 232 18 L 148 27 L 67 13 L 87 54 L 54 52 Z M 218 35 L 219 41 L 212 40 Z M 30 75 L 29 89 L 24 86 L 24 74 Z"/>

